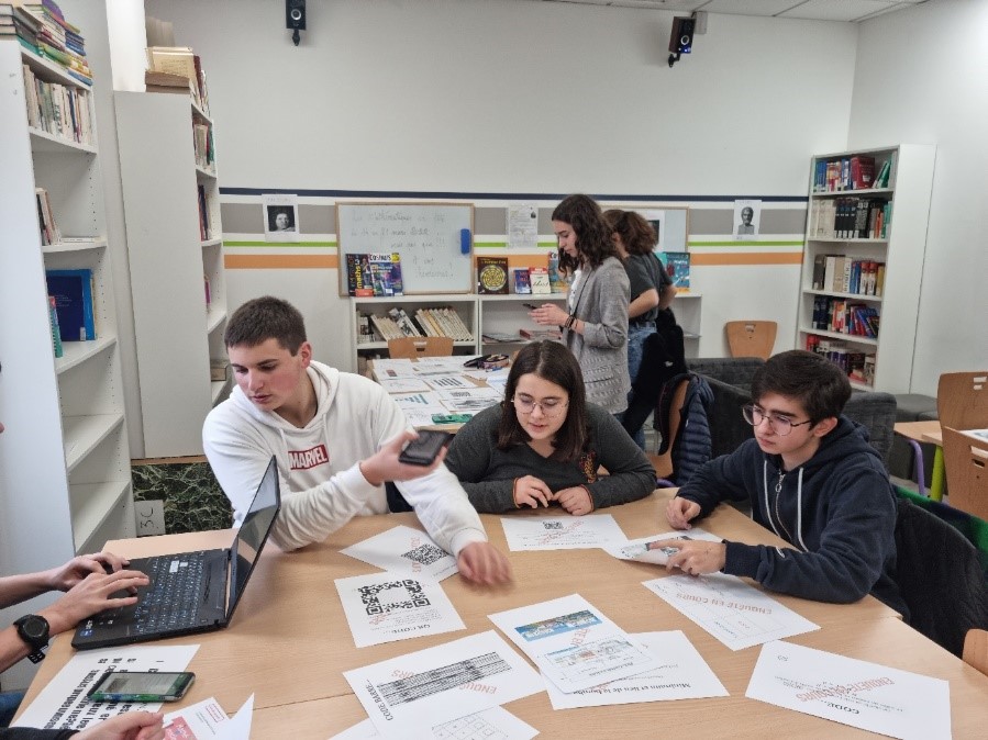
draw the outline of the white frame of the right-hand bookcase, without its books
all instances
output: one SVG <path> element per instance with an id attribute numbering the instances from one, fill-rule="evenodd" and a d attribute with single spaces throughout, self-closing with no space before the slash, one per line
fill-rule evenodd
<path id="1" fill-rule="evenodd" d="M 839 161 L 854 156 L 874 157 L 876 176 L 882 164 L 888 161 L 887 187 L 814 191 L 813 176 L 818 162 Z M 890 393 L 908 393 L 911 389 L 934 158 L 935 147 L 932 145 L 899 145 L 818 155 L 810 164 L 810 198 L 796 346 L 807 348 L 808 338 L 815 336 L 823 343 L 843 345 L 847 352 L 874 355 L 872 382 L 852 380 L 852 385 L 856 389 Z M 890 204 L 891 215 L 881 238 L 833 235 L 833 218 L 825 216 L 821 220 L 820 209 L 846 198 L 874 199 Z M 833 283 L 814 288 L 814 262 L 818 256 L 828 255 L 884 264 L 881 294 L 866 295 L 834 290 Z M 845 301 L 874 310 L 880 316 L 877 336 L 870 338 L 814 328 L 814 301 L 819 299 Z"/>

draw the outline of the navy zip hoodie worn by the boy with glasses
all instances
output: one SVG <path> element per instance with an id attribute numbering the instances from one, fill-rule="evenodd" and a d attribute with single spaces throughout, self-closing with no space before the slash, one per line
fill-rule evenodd
<path id="1" fill-rule="evenodd" d="M 724 573 L 818 602 L 850 604 L 870 592 L 909 617 L 891 576 L 896 494 L 867 430 L 846 416 L 796 470 L 752 438 L 704 464 L 678 495 L 698 503 L 701 517 L 725 498 L 747 498 L 752 518 L 797 548 L 725 541 Z"/>

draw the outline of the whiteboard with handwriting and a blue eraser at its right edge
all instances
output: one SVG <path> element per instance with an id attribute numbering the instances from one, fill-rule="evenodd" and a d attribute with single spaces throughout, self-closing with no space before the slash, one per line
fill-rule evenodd
<path id="1" fill-rule="evenodd" d="M 346 255 L 396 251 L 406 294 L 470 293 L 473 234 L 473 203 L 337 203 L 340 294 L 347 294 Z"/>

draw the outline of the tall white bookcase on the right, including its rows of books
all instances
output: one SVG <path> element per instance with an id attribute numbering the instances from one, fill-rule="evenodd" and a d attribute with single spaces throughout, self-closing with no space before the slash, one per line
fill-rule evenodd
<path id="1" fill-rule="evenodd" d="M 876 176 L 887 162 L 887 182 L 855 190 L 817 177 L 818 166 L 862 157 L 874 159 Z M 855 389 L 911 389 L 934 158 L 932 145 L 899 145 L 811 160 L 796 346 L 813 349 L 815 344 L 815 351 L 845 365 L 851 358 Z M 863 215 L 855 222 L 857 211 Z M 834 258 L 830 269 L 828 257 Z M 880 292 L 868 287 L 873 264 L 884 266 L 877 273 L 884 274 Z M 878 316 L 877 332 L 867 322 L 869 314 Z M 855 371 L 862 356 L 869 358 L 868 367 Z"/>

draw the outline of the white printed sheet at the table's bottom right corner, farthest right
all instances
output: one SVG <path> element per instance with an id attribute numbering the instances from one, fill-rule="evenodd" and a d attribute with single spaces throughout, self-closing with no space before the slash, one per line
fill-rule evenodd
<path id="1" fill-rule="evenodd" d="M 789 642 L 762 648 L 745 696 L 892 738 L 950 738 L 946 681 Z"/>

